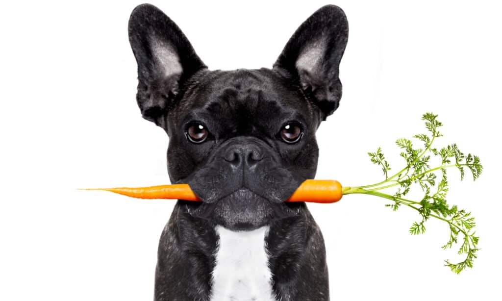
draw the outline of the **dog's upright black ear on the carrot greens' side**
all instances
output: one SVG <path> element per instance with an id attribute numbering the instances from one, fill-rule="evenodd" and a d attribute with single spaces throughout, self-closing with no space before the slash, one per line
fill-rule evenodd
<path id="1" fill-rule="evenodd" d="M 319 107 L 322 120 L 340 102 L 338 70 L 347 38 L 345 13 L 337 6 L 324 6 L 296 30 L 274 64 L 274 69 L 284 69 L 299 80 L 305 95 Z"/>

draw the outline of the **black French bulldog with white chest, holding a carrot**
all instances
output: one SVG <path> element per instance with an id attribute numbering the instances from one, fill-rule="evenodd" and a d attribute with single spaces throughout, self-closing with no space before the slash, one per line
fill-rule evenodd
<path id="1" fill-rule="evenodd" d="M 137 7 L 129 38 L 143 117 L 169 135 L 178 200 L 159 245 L 155 300 L 329 300 L 324 241 L 305 203 L 284 201 L 313 179 L 315 132 L 338 107 L 345 14 L 325 6 L 272 69 L 209 71 L 176 24 Z"/>

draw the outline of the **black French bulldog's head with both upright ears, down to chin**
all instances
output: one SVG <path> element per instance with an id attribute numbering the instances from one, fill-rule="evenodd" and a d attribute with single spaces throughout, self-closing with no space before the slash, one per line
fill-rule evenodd
<path id="1" fill-rule="evenodd" d="M 163 12 L 133 11 L 138 105 L 169 135 L 171 182 L 190 184 L 203 200 L 191 205 L 193 216 L 242 230 L 296 213 L 301 204 L 284 201 L 315 176 L 315 132 L 340 101 L 347 35 L 343 11 L 325 6 L 272 69 L 210 71 Z"/>

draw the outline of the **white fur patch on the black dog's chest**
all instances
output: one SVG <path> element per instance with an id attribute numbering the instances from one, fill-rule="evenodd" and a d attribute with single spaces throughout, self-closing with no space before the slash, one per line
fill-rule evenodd
<path id="1" fill-rule="evenodd" d="M 269 227 L 236 232 L 216 226 L 215 230 L 219 248 L 211 301 L 276 301 L 265 245 Z"/>

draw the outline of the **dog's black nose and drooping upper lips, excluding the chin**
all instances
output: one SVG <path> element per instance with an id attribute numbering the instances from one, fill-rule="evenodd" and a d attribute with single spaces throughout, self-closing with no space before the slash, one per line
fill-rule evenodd
<path id="1" fill-rule="evenodd" d="M 235 137 L 215 149 L 187 183 L 205 203 L 217 202 L 238 191 L 237 195 L 249 191 L 250 195 L 281 203 L 293 194 L 302 179 L 294 178 L 264 140 Z"/>

